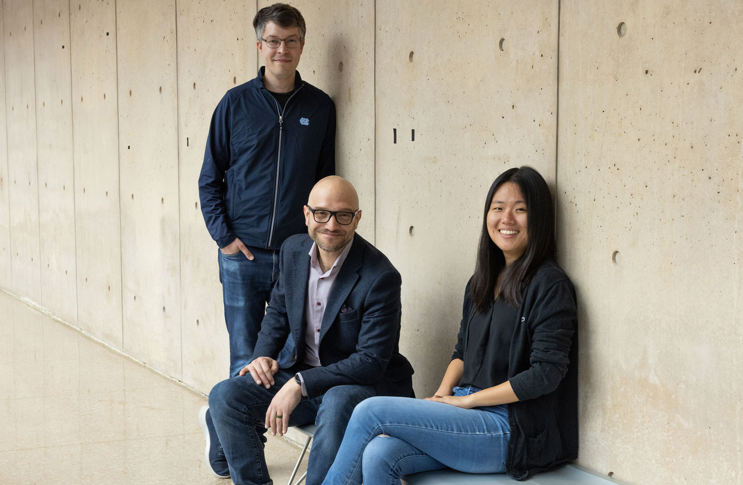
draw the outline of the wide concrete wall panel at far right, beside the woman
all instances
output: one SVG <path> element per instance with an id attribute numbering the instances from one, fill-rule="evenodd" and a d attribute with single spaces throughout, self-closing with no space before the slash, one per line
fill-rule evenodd
<path id="1" fill-rule="evenodd" d="M 580 462 L 629 483 L 743 483 L 742 19 L 739 1 L 562 4 Z"/>

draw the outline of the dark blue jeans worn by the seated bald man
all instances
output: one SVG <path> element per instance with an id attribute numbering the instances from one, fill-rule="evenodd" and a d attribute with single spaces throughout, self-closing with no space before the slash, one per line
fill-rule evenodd
<path id="1" fill-rule="evenodd" d="M 212 388 L 209 411 L 221 442 L 230 476 L 236 485 L 273 484 L 268 475 L 263 443 L 266 411 L 276 392 L 300 368 L 279 369 L 269 389 L 257 385 L 250 374 L 230 377 Z M 319 485 L 343 440 L 343 433 L 357 403 L 376 395 L 371 385 L 337 385 L 322 396 L 302 397 L 289 416 L 289 426 L 315 423 L 307 485 Z"/>

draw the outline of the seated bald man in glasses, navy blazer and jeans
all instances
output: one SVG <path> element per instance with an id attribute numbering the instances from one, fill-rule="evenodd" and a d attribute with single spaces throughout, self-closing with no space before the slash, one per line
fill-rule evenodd
<path id="1" fill-rule="evenodd" d="M 212 388 L 209 406 L 236 485 L 270 484 L 265 432 L 316 423 L 307 484 L 333 463 L 357 403 L 412 396 L 413 369 L 398 351 L 400 273 L 357 235 L 359 198 L 348 180 L 319 180 L 304 206 L 308 234 L 282 245 L 253 359 Z M 288 336 L 289 368 L 276 358 Z M 212 445 L 215 443 L 212 443 Z"/>

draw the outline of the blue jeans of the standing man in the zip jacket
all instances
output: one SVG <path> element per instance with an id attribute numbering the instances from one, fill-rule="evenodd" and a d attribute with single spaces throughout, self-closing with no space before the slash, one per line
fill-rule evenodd
<path id="1" fill-rule="evenodd" d="M 279 251 L 259 247 L 247 249 L 253 253 L 253 261 L 241 252 L 224 254 L 218 250 L 224 322 L 230 334 L 231 377 L 239 374 L 253 360 L 253 349 L 256 348 L 266 304 L 273 284 L 279 279 Z M 291 361 L 293 348 L 293 339 L 287 339 L 284 349 L 276 359 L 279 364 L 285 365 Z"/>

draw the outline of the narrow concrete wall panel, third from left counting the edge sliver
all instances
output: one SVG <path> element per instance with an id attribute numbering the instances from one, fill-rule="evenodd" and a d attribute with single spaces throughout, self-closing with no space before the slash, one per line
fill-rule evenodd
<path id="1" fill-rule="evenodd" d="M 67 0 L 33 1 L 42 305 L 77 322 Z"/>

